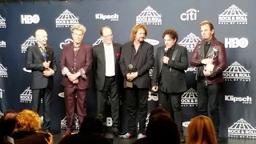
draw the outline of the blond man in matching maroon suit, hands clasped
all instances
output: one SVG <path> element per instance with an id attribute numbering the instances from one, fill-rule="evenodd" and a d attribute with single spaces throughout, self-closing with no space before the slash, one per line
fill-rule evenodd
<path id="1" fill-rule="evenodd" d="M 72 26 L 70 30 L 74 42 L 63 46 L 60 58 L 67 124 L 66 133 L 63 134 L 63 137 L 71 134 L 74 130 L 74 105 L 76 100 L 79 127 L 87 114 L 86 97 L 90 87 L 88 75 L 92 65 L 92 50 L 89 45 L 82 43 L 86 27 L 78 24 Z M 77 98 L 75 98 L 76 95 Z"/>

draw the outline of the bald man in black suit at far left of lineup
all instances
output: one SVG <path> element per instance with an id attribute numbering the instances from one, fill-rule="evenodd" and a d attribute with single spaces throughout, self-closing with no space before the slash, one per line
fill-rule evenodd
<path id="1" fill-rule="evenodd" d="M 47 46 L 46 30 L 37 30 L 35 38 L 38 43 L 26 50 L 25 67 L 32 70 L 30 89 L 32 90 L 32 110 L 39 112 L 42 98 L 43 126 L 46 132 L 50 130 L 50 106 L 51 93 L 54 85 L 54 74 L 57 65 L 54 57 L 54 50 Z"/>

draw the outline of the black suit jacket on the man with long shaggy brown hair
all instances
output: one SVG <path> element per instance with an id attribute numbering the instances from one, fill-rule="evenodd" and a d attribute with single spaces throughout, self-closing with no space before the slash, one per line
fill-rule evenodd
<path id="1" fill-rule="evenodd" d="M 138 54 L 131 61 L 131 53 L 133 49 L 134 42 L 126 42 L 122 46 L 121 58 L 119 65 L 122 71 L 122 75 L 125 78 L 124 88 L 126 88 L 126 74 L 130 71 L 128 65 L 131 64 L 138 72 L 138 77 L 134 78 L 134 85 L 138 88 L 150 88 L 150 75 L 149 70 L 154 65 L 154 46 L 150 45 L 148 42 L 142 42 L 142 45 L 138 49 Z"/>

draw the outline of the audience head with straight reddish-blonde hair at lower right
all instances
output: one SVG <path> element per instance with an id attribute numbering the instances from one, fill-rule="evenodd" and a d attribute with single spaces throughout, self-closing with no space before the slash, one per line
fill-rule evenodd
<path id="1" fill-rule="evenodd" d="M 210 118 L 206 116 L 198 116 L 191 119 L 190 124 L 187 127 L 186 143 L 217 144 L 214 124 L 211 122 Z"/>

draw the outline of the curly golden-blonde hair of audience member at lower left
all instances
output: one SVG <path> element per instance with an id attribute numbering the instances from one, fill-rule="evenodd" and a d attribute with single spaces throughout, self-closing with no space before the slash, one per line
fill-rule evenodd
<path id="1" fill-rule="evenodd" d="M 22 110 L 17 114 L 14 133 L 19 131 L 38 131 L 41 129 L 41 119 L 32 110 Z"/>

